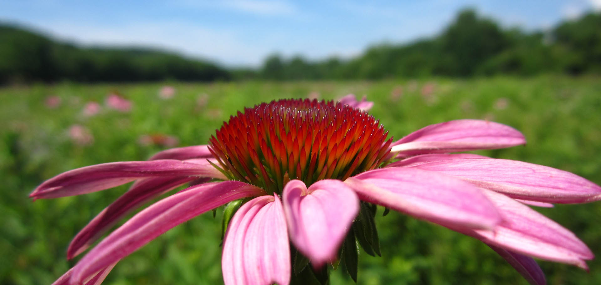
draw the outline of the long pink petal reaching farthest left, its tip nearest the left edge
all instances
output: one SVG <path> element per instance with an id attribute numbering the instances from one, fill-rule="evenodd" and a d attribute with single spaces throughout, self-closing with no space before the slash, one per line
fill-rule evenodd
<path id="1" fill-rule="evenodd" d="M 201 176 L 227 179 L 207 161 L 123 161 L 73 169 L 43 182 L 29 194 L 34 199 L 73 196 L 105 190 L 139 178 Z"/>

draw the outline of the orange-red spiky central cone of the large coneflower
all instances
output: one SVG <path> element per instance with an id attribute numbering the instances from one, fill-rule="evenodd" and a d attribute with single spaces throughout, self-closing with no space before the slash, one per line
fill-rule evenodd
<path id="1" fill-rule="evenodd" d="M 231 179 L 281 194 L 290 179 L 311 185 L 380 166 L 392 137 L 366 112 L 334 101 L 279 100 L 230 116 L 209 149 Z"/>

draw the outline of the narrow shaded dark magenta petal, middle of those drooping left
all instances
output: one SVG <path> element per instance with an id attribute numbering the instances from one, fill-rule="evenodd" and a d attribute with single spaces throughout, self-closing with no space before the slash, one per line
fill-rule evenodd
<path id="1" fill-rule="evenodd" d="M 79 231 L 69 244 L 69 248 L 67 248 L 67 259 L 72 259 L 85 251 L 124 215 L 163 193 L 194 179 L 194 177 L 188 176 L 183 178 L 147 178 L 136 181 L 130 190 L 103 209 L 84 229 Z M 210 180 L 210 178 L 202 179 L 204 179 L 204 182 Z"/>

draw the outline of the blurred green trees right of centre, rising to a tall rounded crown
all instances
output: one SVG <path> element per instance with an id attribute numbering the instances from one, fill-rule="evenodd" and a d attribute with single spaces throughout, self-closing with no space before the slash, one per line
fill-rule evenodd
<path id="1" fill-rule="evenodd" d="M 503 31 L 493 20 L 463 10 L 433 38 L 409 44 L 383 43 L 361 56 L 340 61 L 287 60 L 273 55 L 260 78 L 383 79 L 432 75 L 466 77 L 479 74 L 519 74 L 601 71 L 601 14 L 561 23 L 551 32 L 525 34 Z"/>

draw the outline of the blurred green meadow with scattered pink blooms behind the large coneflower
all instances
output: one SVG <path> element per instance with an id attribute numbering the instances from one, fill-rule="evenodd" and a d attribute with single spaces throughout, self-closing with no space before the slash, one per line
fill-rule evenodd
<path id="1" fill-rule="evenodd" d="M 174 97 L 159 97 L 162 86 Z M 106 107 L 107 94 L 132 101 L 130 112 Z M 129 185 L 32 202 L 45 179 L 76 167 L 145 160 L 168 148 L 143 136 L 174 136 L 177 146 L 206 144 L 230 115 L 276 98 L 367 96 L 370 111 L 400 139 L 426 125 L 486 119 L 511 125 L 528 143 L 480 151 L 576 173 L 601 184 L 601 77 L 537 76 L 357 82 L 223 82 L 11 86 L 0 88 L 0 284 L 50 284 L 75 260 L 66 249 L 75 234 Z M 58 97 L 55 107 L 47 106 Z M 56 99 L 55 99 L 56 100 Z M 100 111 L 85 116 L 85 104 Z M 84 142 L 70 137 L 79 125 Z M 174 192 L 171 192 L 174 193 Z M 601 256 L 601 202 L 536 208 L 576 233 Z M 381 214 L 382 208 L 378 211 Z M 221 216 L 209 212 L 175 227 L 121 260 L 106 284 L 220 284 Z M 381 215 L 378 215 L 381 216 Z M 358 284 L 526 284 L 482 242 L 391 212 L 376 218 L 382 257 L 359 254 Z M 549 284 L 601 284 L 601 257 L 590 273 L 540 261 Z M 331 284 L 352 284 L 340 269 Z"/>

